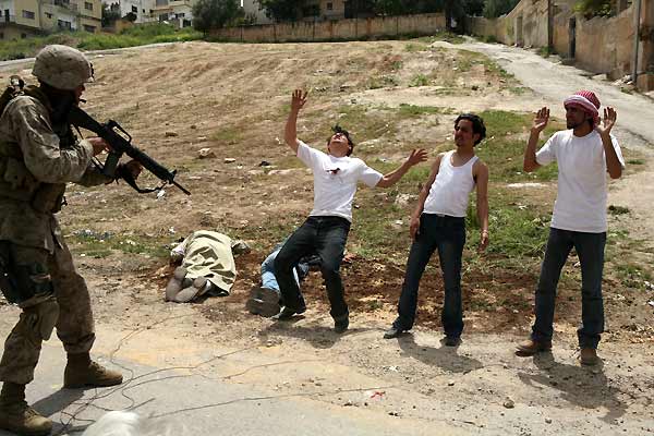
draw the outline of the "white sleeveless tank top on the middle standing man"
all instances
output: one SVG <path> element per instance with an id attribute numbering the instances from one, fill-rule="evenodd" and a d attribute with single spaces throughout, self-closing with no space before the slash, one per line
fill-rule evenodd
<path id="1" fill-rule="evenodd" d="M 453 153 L 455 150 L 448 152 L 440 159 L 438 174 L 425 201 L 424 214 L 465 217 L 470 193 L 475 184 L 472 166 L 479 158 L 473 156 L 465 165 L 455 167 Z"/>

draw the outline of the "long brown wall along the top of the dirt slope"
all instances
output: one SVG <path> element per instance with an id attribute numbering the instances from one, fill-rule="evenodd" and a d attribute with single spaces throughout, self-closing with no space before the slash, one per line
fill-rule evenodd
<path id="1" fill-rule="evenodd" d="M 438 13 L 230 27 L 214 31 L 211 36 L 230 41 L 284 43 L 431 35 L 444 28 L 445 15 Z"/>

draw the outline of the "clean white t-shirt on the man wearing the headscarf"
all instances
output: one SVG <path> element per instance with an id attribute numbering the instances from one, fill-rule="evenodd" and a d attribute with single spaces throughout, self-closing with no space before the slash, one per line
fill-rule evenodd
<path id="1" fill-rule="evenodd" d="M 625 158 L 615 136 L 610 136 L 620 165 Z M 606 225 L 606 157 L 600 133 L 583 137 L 572 130 L 555 133 L 536 153 L 536 162 L 558 164 L 558 193 L 554 203 L 552 227 L 589 233 L 602 233 Z"/>

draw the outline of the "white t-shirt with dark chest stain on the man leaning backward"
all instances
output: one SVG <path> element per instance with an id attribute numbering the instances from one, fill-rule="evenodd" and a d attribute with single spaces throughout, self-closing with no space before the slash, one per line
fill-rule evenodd
<path id="1" fill-rule="evenodd" d="M 373 187 L 384 177 L 355 157 L 335 157 L 298 141 L 298 157 L 314 174 L 314 208 L 310 216 L 337 216 L 352 221 L 356 183 Z"/>

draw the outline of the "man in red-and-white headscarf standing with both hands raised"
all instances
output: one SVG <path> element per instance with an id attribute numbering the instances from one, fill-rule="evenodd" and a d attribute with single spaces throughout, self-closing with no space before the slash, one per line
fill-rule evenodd
<path id="1" fill-rule="evenodd" d="M 531 130 L 524 152 L 524 171 L 556 161 L 558 193 L 549 229 L 545 258 L 535 294 L 536 319 L 531 338 L 516 354 L 533 355 L 552 349 L 556 288 L 568 255 L 574 247 L 581 264 L 582 325 L 577 330 L 580 359 L 584 365 L 597 363 L 597 344 L 604 331 L 602 269 L 606 244 L 606 172 L 619 179 L 625 159 L 618 141 L 610 134 L 616 111 L 604 109 L 600 121 L 600 99 L 580 90 L 564 101 L 568 130 L 555 133 L 536 153 L 541 132 L 549 120 L 542 108 Z"/>

